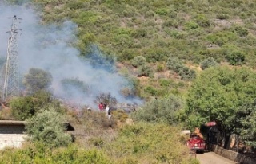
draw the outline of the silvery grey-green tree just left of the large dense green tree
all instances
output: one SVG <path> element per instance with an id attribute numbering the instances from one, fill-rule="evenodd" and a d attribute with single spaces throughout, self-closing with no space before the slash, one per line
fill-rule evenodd
<path id="1" fill-rule="evenodd" d="M 177 123 L 176 114 L 182 108 L 182 100 L 176 96 L 151 100 L 142 109 L 132 114 L 135 120 L 147 122 L 164 122 L 168 124 Z"/>

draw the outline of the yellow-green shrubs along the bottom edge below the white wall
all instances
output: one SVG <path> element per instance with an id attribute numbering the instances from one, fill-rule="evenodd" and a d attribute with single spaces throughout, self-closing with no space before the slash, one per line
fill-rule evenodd
<path id="1" fill-rule="evenodd" d="M 81 146 L 68 146 L 67 148 L 49 148 L 44 143 L 35 143 L 22 149 L 7 149 L 2 152 L 0 163 L 101 163 L 114 164 L 100 150 L 86 150 Z"/>

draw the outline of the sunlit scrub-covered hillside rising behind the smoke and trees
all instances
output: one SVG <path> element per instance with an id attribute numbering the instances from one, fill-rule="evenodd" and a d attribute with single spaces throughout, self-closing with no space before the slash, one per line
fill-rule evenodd
<path id="1" fill-rule="evenodd" d="M 218 63 L 255 67 L 256 6 L 250 0 L 33 2 L 41 6 L 44 23 L 68 19 L 78 25 L 77 46 L 82 56 L 86 56 L 87 45 L 96 44 L 125 65 L 130 65 L 134 57 L 145 57 L 146 64 L 157 73 L 154 78 L 139 79 L 138 94 L 144 98 L 166 96 L 177 93 L 177 88 L 178 92 L 183 86 L 186 88 L 186 81 L 177 81 L 174 72 L 166 72 L 169 57 L 195 65 L 192 68 L 208 57 Z M 123 71 L 126 68 L 129 67 Z M 165 83 L 169 85 L 166 87 Z"/>

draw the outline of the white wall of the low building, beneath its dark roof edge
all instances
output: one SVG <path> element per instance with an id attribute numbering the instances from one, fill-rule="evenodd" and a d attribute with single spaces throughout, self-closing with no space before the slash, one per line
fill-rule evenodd
<path id="1" fill-rule="evenodd" d="M 0 125 L 0 149 L 8 147 L 20 147 L 25 141 L 24 125 Z"/>

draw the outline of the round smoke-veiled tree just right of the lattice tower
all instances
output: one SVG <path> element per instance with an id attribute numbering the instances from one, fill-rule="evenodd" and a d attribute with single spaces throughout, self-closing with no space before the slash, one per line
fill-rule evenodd
<path id="1" fill-rule="evenodd" d="M 29 73 L 24 77 L 23 84 L 28 92 L 33 93 L 48 88 L 52 80 L 50 72 L 40 68 L 30 68 Z"/>

